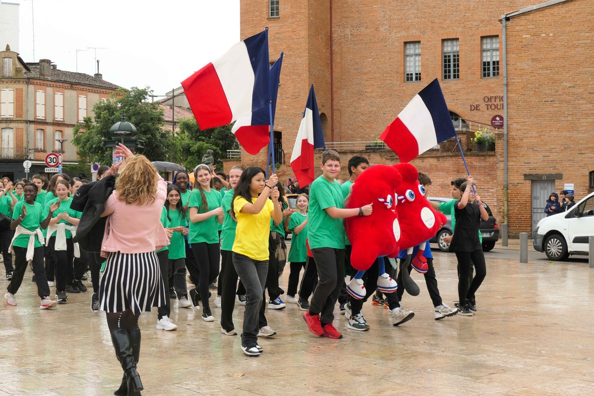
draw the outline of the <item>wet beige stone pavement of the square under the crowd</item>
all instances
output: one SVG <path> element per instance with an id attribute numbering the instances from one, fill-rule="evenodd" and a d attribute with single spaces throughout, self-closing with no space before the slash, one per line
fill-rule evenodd
<path id="1" fill-rule="evenodd" d="M 434 255 L 441 294 L 453 306 L 455 256 L 436 249 Z M 594 394 L 594 270 L 587 259 L 520 265 L 496 257 L 486 254 L 475 316 L 435 321 L 423 278 L 415 274 L 421 295 L 405 294 L 403 305 L 416 315 L 402 327 L 391 326 L 388 310 L 369 302 L 370 331 L 347 330 L 337 309 L 334 324 L 345 337 L 330 340 L 310 334 L 302 312 L 289 305 L 267 311 L 279 334 L 260 339 L 259 357 L 245 356 L 238 336 L 221 334 L 219 322 L 206 323 L 191 309 L 175 306 L 178 330 L 157 331 L 153 309 L 140 320 L 143 395 Z M 90 293 L 40 311 L 30 276 L 18 306 L 0 305 L 0 396 L 112 394 L 121 369 L 105 314 L 90 311 Z M 5 284 L 0 280 L 0 290 Z M 213 313 L 220 318 L 219 309 Z M 236 305 L 238 329 L 242 314 Z"/>

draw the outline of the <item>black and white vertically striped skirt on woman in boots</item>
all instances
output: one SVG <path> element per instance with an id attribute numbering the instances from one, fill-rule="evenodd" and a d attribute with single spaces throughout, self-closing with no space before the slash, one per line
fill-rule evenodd
<path id="1" fill-rule="evenodd" d="M 168 297 L 155 252 L 109 254 L 99 288 L 102 311 L 131 309 L 140 315 L 153 306 L 164 306 Z"/>

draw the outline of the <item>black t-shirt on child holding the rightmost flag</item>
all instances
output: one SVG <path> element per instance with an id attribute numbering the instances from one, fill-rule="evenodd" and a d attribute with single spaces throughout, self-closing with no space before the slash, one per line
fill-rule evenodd
<path id="1" fill-rule="evenodd" d="M 463 209 L 458 208 L 460 201 L 454 204 L 454 216 L 456 217 L 456 229 L 451 239 L 450 251 L 474 252 L 482 249 L 479 240 L 479 224 L 481 223 L 481 211 L 479 206 L 468 202 Z"/>

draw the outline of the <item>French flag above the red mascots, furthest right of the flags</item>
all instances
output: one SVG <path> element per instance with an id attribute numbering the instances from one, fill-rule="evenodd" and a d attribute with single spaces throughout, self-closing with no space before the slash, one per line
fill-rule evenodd
<path id="1" fill-rule="evenodd" d="M 416 94 L 380 135 L 400 162 L 410 162 L 453 137 L 456 131 L 437 78 Z"/>

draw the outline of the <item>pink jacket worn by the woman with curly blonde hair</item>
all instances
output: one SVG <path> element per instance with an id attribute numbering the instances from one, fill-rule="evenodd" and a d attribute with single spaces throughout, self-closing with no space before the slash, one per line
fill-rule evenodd
<path id="1" fill-rule="evenodd" d="M 101 256 L 109 252 L 147 253 L 169 245 L 169 239 L 161 224 L 161 212 L 167 197 L 167 183 L 159 177 L 157 199 L 150 205 L 128 205 L 117 199 L 117 191 L 105 203 L 102 217 L 109 216 Z"/>

